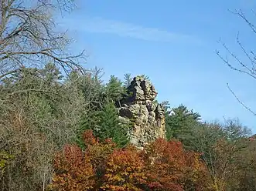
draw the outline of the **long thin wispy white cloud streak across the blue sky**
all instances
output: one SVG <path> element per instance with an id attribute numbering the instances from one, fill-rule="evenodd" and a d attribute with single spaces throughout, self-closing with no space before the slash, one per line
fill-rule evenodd
<path id="1" fill-rule="evenodd" d="M 70 21 L 71 22 L 71 21 Z M 77 23 L 83 23 L 77 24 Z M 84 18 L 73 22 L 73 29 L 83 32 L 109 33 L 122 37 L 130 37 L 152 42 L 192 42 L 201 44 L 200 39 L 192 35 L 169 32 L 159 28 L 149 28 L 126 22 L 118 22 L 103 18 Z"/>

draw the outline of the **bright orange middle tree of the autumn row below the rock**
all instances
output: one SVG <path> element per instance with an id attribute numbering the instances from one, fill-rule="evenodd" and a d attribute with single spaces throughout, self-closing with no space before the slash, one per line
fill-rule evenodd
<path id="1" fill-rule="evenodd" d="M 145 183 L 145 163 L 132 147 L 116 149 L 108 158 L 104 184 L 101 188 L 107 190 L 142 190 Z"/>

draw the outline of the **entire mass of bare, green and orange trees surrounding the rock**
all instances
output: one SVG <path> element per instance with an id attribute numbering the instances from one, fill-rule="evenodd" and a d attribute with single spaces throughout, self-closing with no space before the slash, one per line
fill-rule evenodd
<path id="1" fill-rule="evenodd" d="M 71 7 L 1 1 L 0 190 L 256 189 L 256 140 L 238 119 L 206 122 L 148 95 L 151 115 L 163 112 L 166 135 L 132 144 L 136 121 L 124 122 L 118 111 L 129 107 L 123 100 L 132 81 L 150 76 L 103 82 L 101 69 L 82 66 L 82 53 L 68 54 L 70 39 L 54 30 L 51 15 Z"/>

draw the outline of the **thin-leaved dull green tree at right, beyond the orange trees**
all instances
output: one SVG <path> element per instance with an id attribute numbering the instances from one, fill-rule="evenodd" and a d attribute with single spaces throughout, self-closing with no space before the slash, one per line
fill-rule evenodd
<path id="1" fill-rule="evenodd" d="M 228 120 L 224 124 L 202 123 L 191 131 L 190 149 L 202 153 L 216 190 L 236 184 L 234 176 L 237 177 L 241 170 L 237 169 L 241 166 L 237 162 L 244 160 L 244 153 L 248 152 L 248 142 L 245 140 L 249 135 L 250 131 L 236 120 Z"/>

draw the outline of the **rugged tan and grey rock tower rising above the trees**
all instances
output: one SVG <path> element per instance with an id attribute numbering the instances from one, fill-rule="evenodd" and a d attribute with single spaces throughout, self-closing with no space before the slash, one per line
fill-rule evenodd
<path id="1" fill-rule="evenodd" d="M 118 108 L 120 119 L 131 122 L 131 143 L 139 148 L 157 138 L 166 138 L 164 109 L 155 102 L 156 95 L 151 82 L 135 77 L 128 87 L 128 96 Z"/>

